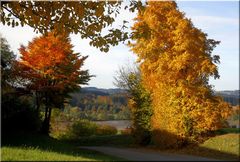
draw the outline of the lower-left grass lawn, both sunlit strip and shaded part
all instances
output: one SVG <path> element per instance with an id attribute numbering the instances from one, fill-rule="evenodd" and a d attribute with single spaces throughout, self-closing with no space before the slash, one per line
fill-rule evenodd
<path id="1" fill-rule="evenodd" d="M 43 135 L 18 135 L 2 139 L 4 161 L 120 161 L 117 157 L 77 148 Z"/>

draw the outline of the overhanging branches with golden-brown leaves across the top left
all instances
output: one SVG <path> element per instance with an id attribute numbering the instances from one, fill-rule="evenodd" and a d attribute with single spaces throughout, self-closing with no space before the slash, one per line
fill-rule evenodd
<path id="1" fill-rule="evenodd" d="M 130 1 L 124 9 L 134 12 L 141 6 L 141 2 Z M 12 27 L 28 25 L 40 33 L 80 34 L 91 40 L 90 45 L 107 52 L 109 45 L 129 38 L 124 31 L 126 21 L 121 28 L 111 27 L 121 7 L 121 1 L 1 1 L 1 22 Z M 105 35 L 104 29 L 108 31 Z"/>

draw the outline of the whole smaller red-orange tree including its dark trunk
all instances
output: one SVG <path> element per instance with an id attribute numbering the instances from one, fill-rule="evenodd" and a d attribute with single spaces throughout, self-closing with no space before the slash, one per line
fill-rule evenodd
<path id="1" fill-rule="evenodd" d="M 66 94 L 87 84 L 90 75 L 82 66 L 87 57 L 81 57 L 72 50 L 66 34 L 47 33 L 21 46 L 21 60 L 18 62 L 19 76 L 25 78 L 22 86 L 33 91 L 39 104 L 45 105 L 43 133 L 49 131 L 52 107 L 60 107 Z"/>

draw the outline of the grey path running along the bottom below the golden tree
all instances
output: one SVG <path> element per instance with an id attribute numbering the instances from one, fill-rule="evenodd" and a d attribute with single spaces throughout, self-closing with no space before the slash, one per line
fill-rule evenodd
<path id="1" fill-rule="evenodd" d="M 81 146 L 80 148 L 95 150 L 130 161 L 218 161 L 204 157 L 159 153 L 156 151 L 153 152 L 135 148 L 115 148 L 104 146 Z"/>

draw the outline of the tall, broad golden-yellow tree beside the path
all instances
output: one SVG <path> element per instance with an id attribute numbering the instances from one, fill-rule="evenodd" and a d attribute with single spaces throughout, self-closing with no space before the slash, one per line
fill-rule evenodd
<path id="1" fill-rule="evenodd" d="M 230 107 L 208 83 L 219 77 L 219 56 L 212 55 L 219 41 L 208 39 L 173 1 L 150 1 L 135 20 L 130 46 L 151 93 L 153 141 L 178 147 L 221 128 Z"/>

